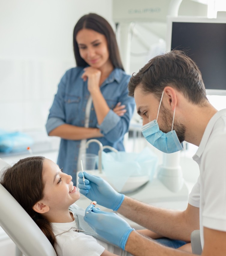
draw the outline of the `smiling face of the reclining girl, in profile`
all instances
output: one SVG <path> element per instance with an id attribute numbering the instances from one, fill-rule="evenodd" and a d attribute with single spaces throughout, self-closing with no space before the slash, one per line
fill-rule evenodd
<path id="1" fill-rule="evenodd" d="M 68 207 L 80 198 L 80 193 L 71 181 L 72 177 L 62 173 L 59 166 L 50 159 L 43 161 L 42 179 L 44 182 L 45 204 L 57 210 Z"/>

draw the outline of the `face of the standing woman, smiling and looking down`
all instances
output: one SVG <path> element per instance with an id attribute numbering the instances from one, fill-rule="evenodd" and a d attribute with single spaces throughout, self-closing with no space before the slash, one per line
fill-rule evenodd
<path id="1" fill-rule="evenodd" d="M 92 30 L 81 29 L 76 35 L 80 56 L 93 68 L 102 68 L 110 63 L 107 39 Z"/>

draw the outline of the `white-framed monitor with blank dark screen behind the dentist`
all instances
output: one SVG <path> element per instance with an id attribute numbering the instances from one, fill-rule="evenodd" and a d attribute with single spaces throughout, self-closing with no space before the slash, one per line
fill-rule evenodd
<path id="1" fill-rule="evenodd" d="M 208 95 L 226 95 L 226 19 L 168 17 L 166 45 L 196 62 Z"/>

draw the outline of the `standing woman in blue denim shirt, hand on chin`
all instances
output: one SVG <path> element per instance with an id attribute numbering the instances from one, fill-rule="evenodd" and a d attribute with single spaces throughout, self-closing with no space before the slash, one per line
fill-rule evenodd
<path id="1" fill-rule="evenodd" d="M 103 146 L 124 151 L 135 102 L 128 96 L 130 75 L 119 56 L 115 33 L 98 14 L 82 16 L 74 27 L 76 67 L 62 77 L 46 123 L 49 136 L 61 138 L 57 164 L 72 176 L 81 170 L 83 154 L 98 154 L 99 146 L 86 140 L 98 139 Z"/>

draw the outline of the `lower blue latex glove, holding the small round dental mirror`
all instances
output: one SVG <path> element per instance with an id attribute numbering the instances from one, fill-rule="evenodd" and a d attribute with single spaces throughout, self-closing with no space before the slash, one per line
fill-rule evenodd
<path id="1" fill-rule="evenodd" d="M 84 185 L 84 184 L 83 184 Z M 114 212 L 104 212 L 93 205 L 86 208 L 84 220 L 110 243 L 125 250 L 125 245 L 134 228 Z"/>

